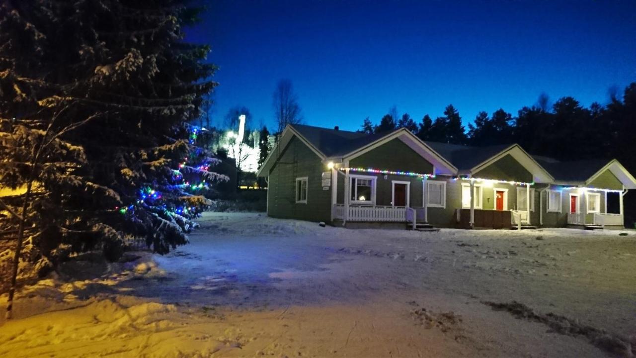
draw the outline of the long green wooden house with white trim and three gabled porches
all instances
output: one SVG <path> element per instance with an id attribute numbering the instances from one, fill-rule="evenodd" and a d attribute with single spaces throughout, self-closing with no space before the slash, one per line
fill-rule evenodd
<path id="1" fill-rule="evenodd" d="M 623 227 L 623 196 L 636 189 L 616 160 L 308 125 L 286 127 L 258 176 L 268 215 L 347 227 Z"/>

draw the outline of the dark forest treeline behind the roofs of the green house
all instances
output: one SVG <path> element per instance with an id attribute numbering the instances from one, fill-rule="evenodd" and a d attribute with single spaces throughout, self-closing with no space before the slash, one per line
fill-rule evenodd
<path id="1" fill-rule="evenodd" d="M 539 96 L 537 104 L 523 107 L 513 117 L 502 109 L 488 115 L 480 112 L 469 124 L 462 125 L 459 111 L 446 106 L 443 117 L 434 120 L 424 115 L 420 122 L 392 108 L 380 124 L 364 120 L 360 132 L 382 132 L 404 127 L 422 140 L 460 145 L 487 146 L 518 143 L 530 154 L 546 155 L 562 161 L 580 159 L 618 159 L 636 173 L 636 82 L 606 105 L 593 103 L 589 108 L 573 97 L 562 97 L 550 105 L 548 96 Z"/>

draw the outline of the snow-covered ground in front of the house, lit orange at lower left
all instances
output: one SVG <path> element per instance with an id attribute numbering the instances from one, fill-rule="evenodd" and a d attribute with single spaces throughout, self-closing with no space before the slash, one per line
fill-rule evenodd
<path id="1" fill-rule="evenodd" d="M 0 357 L 636 354 L 634 231 L 200 224 L 169 255 L 71 262 L 26 287 Z"/>

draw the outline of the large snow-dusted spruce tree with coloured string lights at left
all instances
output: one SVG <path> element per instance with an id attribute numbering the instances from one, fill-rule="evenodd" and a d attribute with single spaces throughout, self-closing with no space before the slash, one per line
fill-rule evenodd
<path id="1" fill-rule="evenodd" d="M 183 41 L 197 13 L 173 0 L 0 4 L 8 138 L 0 187 L 28 179 L 20 151 L 37 148 L 53 118 L 53 132 L 62 131 L 43 157 L 58 171 L 50 178 L 35 171 L 39 199 L 25 216 L 43 255 L 101 247 L 115 258 L 127 237 L 160 253 L 186 243 L 191 220 L 207 206 L 197 190 L 224 179 L 209 170 L 216 159 L 195 147 L 196 129 L 186 125 L 216 85 L 214 66 L 203 62 L 208 48 Z M 29 135 L 29 143 L 19 140 Z M 16 205 L 17 196 L 5 201 Z M 17 220 L 6 215 L 1 229 L 10 231 Z"/>

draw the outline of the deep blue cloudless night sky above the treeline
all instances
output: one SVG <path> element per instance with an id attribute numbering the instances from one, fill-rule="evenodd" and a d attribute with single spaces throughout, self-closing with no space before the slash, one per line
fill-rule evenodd
<path id="1" fill-rule="evenodd" d="M 206 2 L 207 3 L 207 2 Z M 636 81 L 636 1 L 213 1 L 188 40 L 209 43 L 214 125 L 232 106 L 273 127 L 289 78 L 304 123 L 356 130 L 393 105 L 417 122 L 452 103 L 516 115 L 573 96 L 607 103 Z"/>

